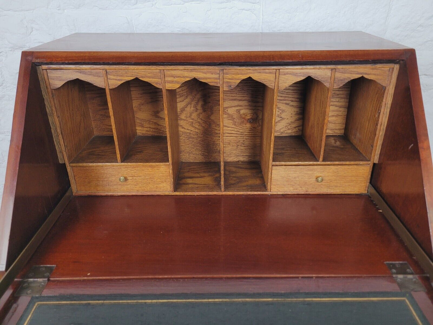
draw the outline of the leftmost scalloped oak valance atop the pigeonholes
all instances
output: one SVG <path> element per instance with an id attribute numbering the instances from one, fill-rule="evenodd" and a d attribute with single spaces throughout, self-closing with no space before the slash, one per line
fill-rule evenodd
<path id="1" fill-rule="evenodd" d="M 103 70 L 48 69 L 47 74 L 52 89 L 59 88 L 65 82 L 74 79 L 87 81 L 97 87 L 105 88 Z"/>

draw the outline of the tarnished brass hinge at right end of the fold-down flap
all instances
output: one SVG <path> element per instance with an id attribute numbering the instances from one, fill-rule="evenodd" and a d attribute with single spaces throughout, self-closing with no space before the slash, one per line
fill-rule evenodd
<path id="1" fill-rule="evenodd" d="M 407 262 L 385 262 L 401 291 L 427 291 Z"/>

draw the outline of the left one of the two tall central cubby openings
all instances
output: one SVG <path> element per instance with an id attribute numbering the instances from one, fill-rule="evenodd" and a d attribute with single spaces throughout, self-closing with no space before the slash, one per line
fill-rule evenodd
<path id="1" fill-rule="evenodd" d="M 220 192 L 220 88 L 191 78 L 168 89 L 167 96 L 168 105 L 177 107 L 168 107 L 169 114 L 177 114 L 178 132 L 171 132 L 179 157 L 175 191 Z"/>

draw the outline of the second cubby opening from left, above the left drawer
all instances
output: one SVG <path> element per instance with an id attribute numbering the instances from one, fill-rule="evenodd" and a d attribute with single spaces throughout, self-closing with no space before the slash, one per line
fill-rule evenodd
<path id="1" fill-rule="evenodd" d="M 110 89 L 118 160 L 168 163 L 162 89 L 138 78 Z"/>

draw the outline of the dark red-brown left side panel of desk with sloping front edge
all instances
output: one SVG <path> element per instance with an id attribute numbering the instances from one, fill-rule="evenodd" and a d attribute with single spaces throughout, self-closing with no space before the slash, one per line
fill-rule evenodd
<path id="1" fill-rule="evenodd" d="M 9 237 L 6 268 L 70 187 L 65 164 L 58 162 L 36 66 L 30 61 L 23 54 L 0 212 L 1 241 Z"/>

